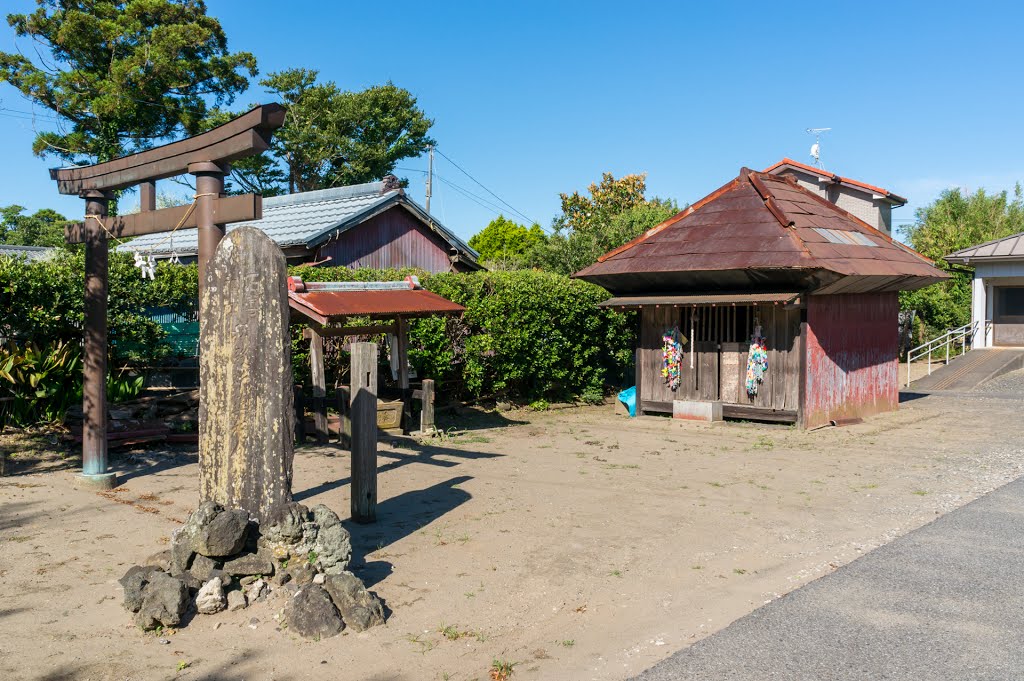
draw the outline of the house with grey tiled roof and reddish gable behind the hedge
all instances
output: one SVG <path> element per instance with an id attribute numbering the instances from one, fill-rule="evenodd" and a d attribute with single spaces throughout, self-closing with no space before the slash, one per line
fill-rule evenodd
<path id="1" fill-rule="evenodd" d="M 303 191 L 263 200 L 263 216 L 227 225 L 263 230 L 290 264 L 346 267 L 418 267 L 430 272 L 480 269 L 479 257 L 434 216 L 410 199 L 394 177 L 381 182 Z M 195 261 L 197 230 L 145 235 L 119 251 Z"/>

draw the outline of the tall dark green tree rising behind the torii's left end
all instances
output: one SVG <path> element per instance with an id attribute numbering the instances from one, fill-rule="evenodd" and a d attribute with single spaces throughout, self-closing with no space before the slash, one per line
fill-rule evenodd
<path id="1" fill-rule="evenodd" d="M 44 50 L 35 60 L 0 52 L 0 82 L 57 115 L 57 130 L 36 134 L 39 156 L 101 162 L 193 134 L 256 75 L 203 0 L 37 3 L 7 22 Z"/>

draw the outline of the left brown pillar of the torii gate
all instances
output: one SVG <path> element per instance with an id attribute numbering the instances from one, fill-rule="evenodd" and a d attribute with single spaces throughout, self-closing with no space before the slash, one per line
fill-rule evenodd
<path id="1" fill-rule="evenodd" d="M 117 476 L 106 459 L 106 278 L 108 241 L 100 220 L 110 195 L 89 189 L 85 199 L 85 343 L 82 360 L 82 475 L 86 486 L 110 490 Z M 92 217 L 95 216 L 95 217 Z"/>

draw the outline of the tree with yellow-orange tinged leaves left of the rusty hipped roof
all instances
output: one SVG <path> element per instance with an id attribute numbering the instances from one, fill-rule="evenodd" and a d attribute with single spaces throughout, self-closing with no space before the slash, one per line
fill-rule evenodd
<path id="1" fill-rule="evenodd" d="M 636 239 L 679 212 L 675 201 L 644 198 L 645 175 L 615 179 L 604 173 L 590 185 L 590 196 L 562 194 L 562 213 L 554 220 L 554 233 L 534 249 L 535 266 L 571 274 L 599 256 Z"/>

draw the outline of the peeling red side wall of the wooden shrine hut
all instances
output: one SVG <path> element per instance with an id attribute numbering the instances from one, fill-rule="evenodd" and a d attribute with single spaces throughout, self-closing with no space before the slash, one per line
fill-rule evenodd
<path id="1" fill-rule="evenodd" d="M 899 406 L 896 293 L 807 298 L 804 427 Z"/>

